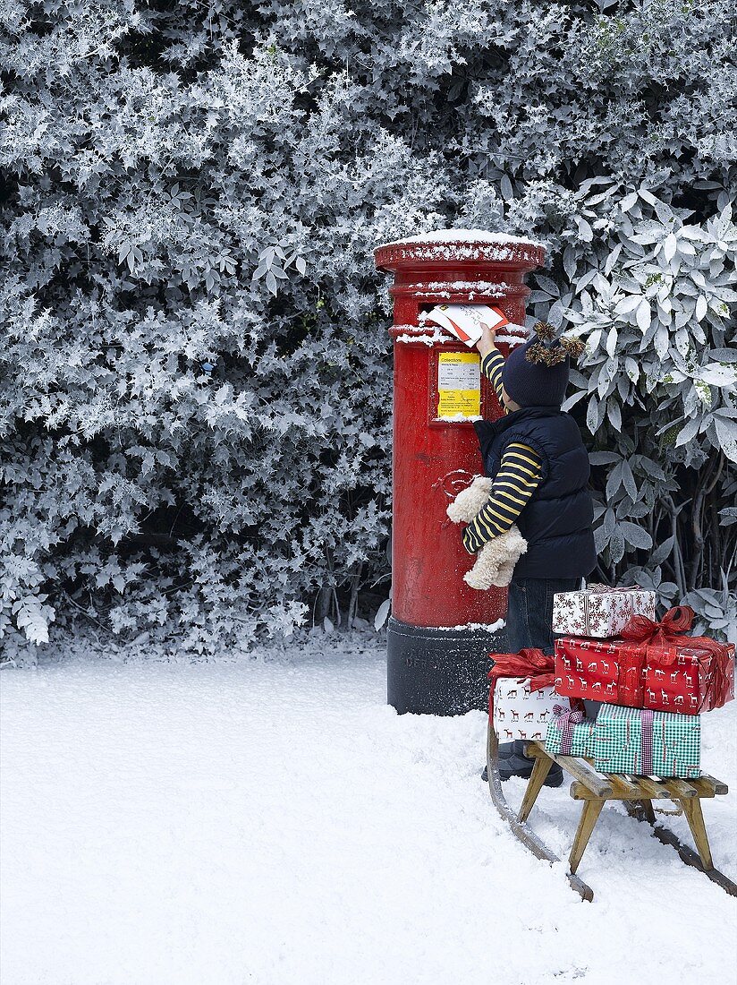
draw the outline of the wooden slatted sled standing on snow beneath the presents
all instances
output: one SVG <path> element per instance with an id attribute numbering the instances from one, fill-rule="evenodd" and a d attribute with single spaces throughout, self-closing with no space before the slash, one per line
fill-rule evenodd
<path id="1" fill-rule="evenodd" d="M 567 875 L 571 887 L 582 899 L 592 900 L 593 890 L 590 886 L 586 886 L 576 872 L 591 832 L 608 800 L 622 801 L 627 813 L 638 821 L 647 821 L 651 824 L 653 837 L 675 848 L 682 862 L 704 873 L 707 879 L 721 886 L 725 892 L 737 896 L 737 884 L 713 867 L 701 805 L 705 797 L 726 794 L 728 788 L 725 783 L 706 774 L 698 780 L 680 780 L 630 776 L 623 773 L 598 773 L 586 759 L 547 753 L 543 744 L 539 742 L 530 742 L 525 754 L 534 757 L 535 763 L 527 781 L 520 812 L 516 815 L 507 803 L 502 790 L 502 782 L 499 778 L 499 741 L 489 723 L 486 762 L 491 799 L 499 814 L 509 823 L 513 833 L 523 845 L 539 859 L 558 862 L 560 861 L 558 856 L 537 837 L 526 821 L 554 762 L 574 777 L 570 793 L 574 800 L 583 801 L 583 811 L 569 856 Z M 694 836 L 696 852 L 684 844 L 673 831 L 655 820 L 653 800 L 672 800 L 680 806 Z"/>

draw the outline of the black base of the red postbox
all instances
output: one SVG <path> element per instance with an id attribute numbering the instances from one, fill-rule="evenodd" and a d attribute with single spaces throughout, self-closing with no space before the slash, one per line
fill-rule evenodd
<path id="1" fill-rule="evenodd" d="M 485 710 L 490 652 L 504 652 L 504 629 L 442 629 L 390 619 L 387 699 L 399 714 L 462 715 Z"/>

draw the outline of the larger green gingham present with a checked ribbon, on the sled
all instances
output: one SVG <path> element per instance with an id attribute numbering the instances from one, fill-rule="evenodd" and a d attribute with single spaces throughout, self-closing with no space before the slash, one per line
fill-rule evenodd
<path id="1" fill-rule="evenodd" d="M 700 715 L 602 704 L 594 731 L 594 765 L 603 773 L 701 775 Z"/>

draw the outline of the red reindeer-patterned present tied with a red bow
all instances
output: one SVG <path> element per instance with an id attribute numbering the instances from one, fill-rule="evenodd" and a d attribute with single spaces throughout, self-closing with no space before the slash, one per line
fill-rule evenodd
<path id="1" fill-rule="evenodd" d="M 679 606 L 660 623 L 636 617 L 623 639 L 557 639 L 556 690 L 682 715 L 720 708 L 734 697 L 734 645 L 681 635 L 693 619 L 692 609 Z"/>

